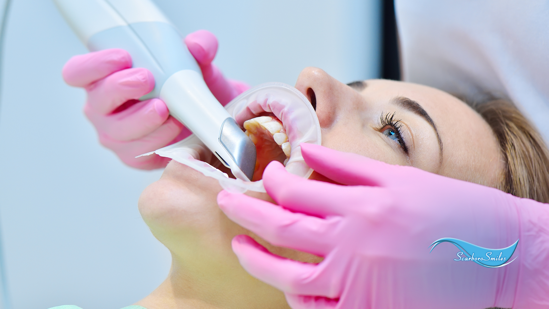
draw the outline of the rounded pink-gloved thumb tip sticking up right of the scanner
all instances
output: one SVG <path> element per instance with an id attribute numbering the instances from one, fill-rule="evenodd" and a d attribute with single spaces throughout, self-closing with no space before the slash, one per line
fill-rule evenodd
<path id="1" fill-rule="evenodd" d="M 198 65 L 210 65 L 217 53 L 217 38 L 208 30 L 198 30 L 184 39 L 189 52 L 197 59 Z"/>

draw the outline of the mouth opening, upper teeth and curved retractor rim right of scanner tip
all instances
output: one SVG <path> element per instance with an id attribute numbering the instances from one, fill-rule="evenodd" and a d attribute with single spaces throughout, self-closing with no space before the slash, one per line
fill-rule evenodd
<path id="1" fill-rule="evenodd" d="M 288 172 L 309 177 L 312 169 L 299 145 L 320 145 L 321 131 L 315 109 L 299 90 L 272 82 L 242 93 L 226 108 L 256 146 L 253 181 L 260 180 L 267 164 L 275 160 Z"/>

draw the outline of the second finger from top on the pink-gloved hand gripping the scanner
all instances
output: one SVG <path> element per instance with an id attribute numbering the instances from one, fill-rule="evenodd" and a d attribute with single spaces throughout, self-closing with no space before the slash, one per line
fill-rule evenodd
<path id="1" fill-rule="evenodd" d="M 154 76 L 144 68 L 117 71 L 88 87 L 88 105 L 109 114 L 128 100 L 137 100 L 154 89 Z"/>

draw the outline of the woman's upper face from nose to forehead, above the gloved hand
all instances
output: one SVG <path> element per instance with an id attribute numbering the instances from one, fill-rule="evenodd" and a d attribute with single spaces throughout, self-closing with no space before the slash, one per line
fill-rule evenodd
<path id="1" fill-rule="evenodd" d="M 467 104 L 408 82 L 367 80 L 361 86 L 351 89 L 320 69 L 301 72 L 296 88 L 315 93 L 323 146 L 497 185 L 503 168 L 499 146 L 489 125 Z"/>

